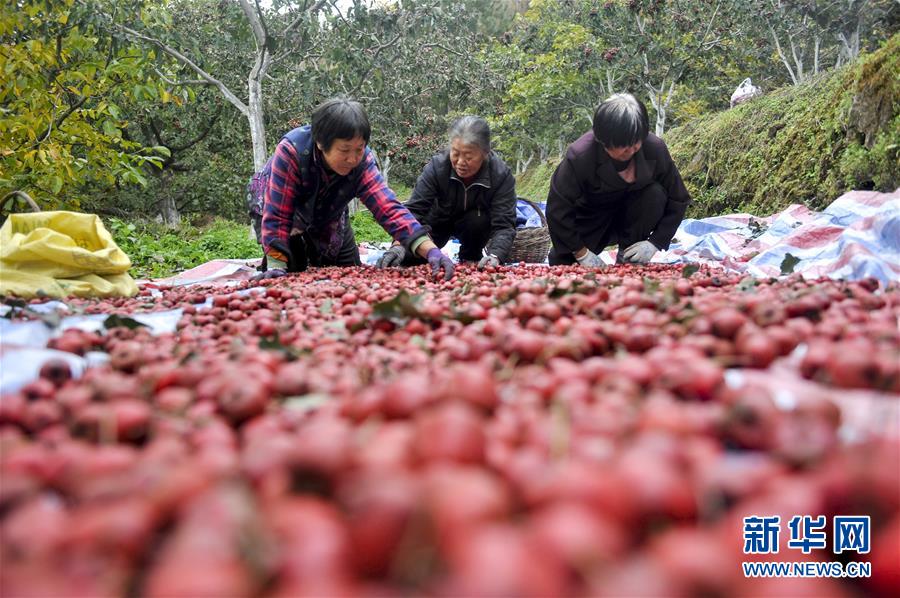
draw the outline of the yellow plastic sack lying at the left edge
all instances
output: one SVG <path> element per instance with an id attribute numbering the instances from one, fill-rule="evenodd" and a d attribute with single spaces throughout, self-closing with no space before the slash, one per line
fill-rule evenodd
<path id="1" fill-rule="evenodd" d="M 0 294 L 131 297 L 131 260 L 95 214 L 12 214 L 0 228 Z"/>

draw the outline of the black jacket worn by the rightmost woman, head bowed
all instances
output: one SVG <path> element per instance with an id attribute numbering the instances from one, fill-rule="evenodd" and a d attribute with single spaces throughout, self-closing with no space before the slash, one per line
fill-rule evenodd
<path id="1" fill-rule="evenodd" d="M 650 242 L 668 249 L 691 196 L 669 155 L 665 142 L 647 136 L 634 155 L 636 180 L 626 183 L 616 172 L 611 158 L 590 131 L 575 140 L 550 179 L 547 196 L 547 223 L 553 246 L 562 252 L 591 247 L 591 227 L 579 223 L 612 218 L 633 193 L 659 183 L 668 197 L 662 219 L 650 235 Z M 601 247 L 602 249 L 602 247 Z"/>

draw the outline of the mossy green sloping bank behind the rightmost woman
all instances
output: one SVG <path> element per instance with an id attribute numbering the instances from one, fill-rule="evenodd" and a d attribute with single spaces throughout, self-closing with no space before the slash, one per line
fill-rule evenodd
<path id="1" fill-rule="evenodd" d="M 693 217 L 822 209 L 850 189 L 900 185 L 900 35 L 850 67 L 666 135 Z"/>

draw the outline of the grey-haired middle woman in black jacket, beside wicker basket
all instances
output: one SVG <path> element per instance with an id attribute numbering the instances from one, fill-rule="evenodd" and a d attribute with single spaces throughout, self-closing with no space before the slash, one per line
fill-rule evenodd
<path id="1" fill-rule="evenodd" d="M 460 261 L 479 268 L 503 263 L 516 235 L 516 181 L 500 156 L 491 151 L 491 130 L 478 116 L 450 126 L 450 147 L 434 156 L 416 181 L 406 203 L 442 247 L 459 239 Z M 414 263 L 402 245 L 391 247 L 380 266 Z"/>

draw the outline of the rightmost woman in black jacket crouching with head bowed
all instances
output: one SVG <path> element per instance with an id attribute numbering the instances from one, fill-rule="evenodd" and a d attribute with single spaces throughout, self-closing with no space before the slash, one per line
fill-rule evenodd
<path id="1" fill-rule="evenodd" d="M 547 197 L 550 264 L 602 266 L 599 253 L 618 245 L 618 262 L 646 264 L 668 249 L 691 201 L 669 150 L 649 132 L 647 108 L 622 93 L 600 104 L 591 131 L 569 149 Z"/>

